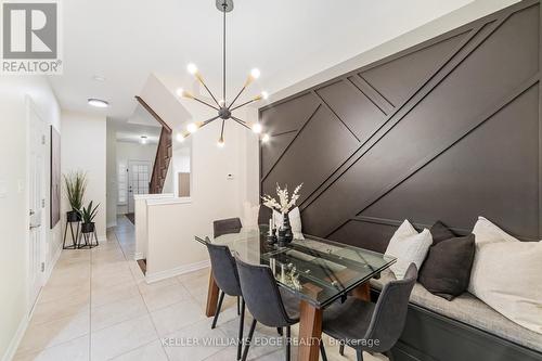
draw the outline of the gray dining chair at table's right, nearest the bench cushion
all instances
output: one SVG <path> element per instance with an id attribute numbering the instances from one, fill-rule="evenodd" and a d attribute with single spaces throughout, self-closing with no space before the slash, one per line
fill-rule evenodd
<path id="1" fill-rule="evenodd" d="M 409 266 L 403 280 L 386 284 L 376 304 L 349 297 L 344 304 L 335 304 L 324 310 L 322 332 L 356 349 L 358 361 L 363 351 L 382 352 L 392 360 L 391 348 L 404 327 L 409 298 L 416 283 L 417 269 Z M 323 343 L 320 343 L 322 359 L 327 361 Z"/>

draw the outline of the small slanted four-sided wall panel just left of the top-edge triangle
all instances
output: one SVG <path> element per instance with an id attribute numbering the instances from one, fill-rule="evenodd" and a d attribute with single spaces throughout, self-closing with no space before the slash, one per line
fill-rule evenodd
<path id="1" fill-rule="evenodd" d="M 349 80 L 330 85 L 317 93 L 360 140 L 369 138 L 386 119 L 385 114 Z"/>

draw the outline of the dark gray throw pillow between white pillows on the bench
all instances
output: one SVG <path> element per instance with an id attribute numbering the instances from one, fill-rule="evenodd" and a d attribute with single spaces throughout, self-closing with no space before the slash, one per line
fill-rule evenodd
<path id="1" fill-rule="evenodd" d="M 418 281 L 431 294 L 452 300 L 468 287 L 475 235 L 455 236 L 440 221 L 431 227 L 430 232 L 434 243 L 420 271 Z"/>

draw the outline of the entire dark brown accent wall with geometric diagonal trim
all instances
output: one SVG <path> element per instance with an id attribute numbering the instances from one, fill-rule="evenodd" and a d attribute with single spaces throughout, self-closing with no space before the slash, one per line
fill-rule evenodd
<path id="1" fill-rule="evenodd" d="M 261 193 L 304 182 L 304 232 L 380 252 L 404 218 L 539 240 L 540 18 L 522 1 L 261 108 Z"/>

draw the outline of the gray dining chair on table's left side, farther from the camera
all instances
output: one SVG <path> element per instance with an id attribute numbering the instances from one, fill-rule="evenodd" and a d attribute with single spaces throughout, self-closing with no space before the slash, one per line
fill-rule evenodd
<path id="1" fill-rule="evenodd" d="M 235 259 L 233 258 L 230 248 L 223 245 L 211 244 L 208 238 L 205 244 L 210 257 L 212 278 L 215 279 L 217 286 L 220 288 L 220 297 L 211 325 L 211 328 L 215 328 L 217 326 L 220 309 L 222 308 L 222 301 L 224 300 L 224 294 L 237 297 L 238 300 L 238 297 L 242 295 L 241 284 Z M 241 300 L 241 311 L 238 309 L 237 311 L 241 313 L 237 337 L 237 360 L 240 360 L 243 347 L 243 325 L 245 322 L 245 301 L 243 298 Z"/>

